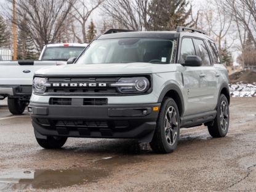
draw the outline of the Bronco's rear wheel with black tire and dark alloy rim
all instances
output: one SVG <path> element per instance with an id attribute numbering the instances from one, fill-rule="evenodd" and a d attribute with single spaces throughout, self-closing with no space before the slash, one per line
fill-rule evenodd
<path id="1" fill-rule="evenodd" d="M 214 119 L 214 126 L 208 126 L 209 134 L 212 137 L 225 137 L 230 124 L 230 110 L 225 95 L 220 95 L 217 106 L 217 114 Z"/>

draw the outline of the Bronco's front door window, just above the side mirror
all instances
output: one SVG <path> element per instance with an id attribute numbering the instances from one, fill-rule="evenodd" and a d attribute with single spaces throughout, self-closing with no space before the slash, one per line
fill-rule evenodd
<path id="1" fill-rule="evenodd" d="M 188 55 L 196 55 L 196 51 L 194 50 L 194 44 L 192 39 L 184 38 L 182 39 L 182 49 L 180 51 L 180 63 L 185 63 L 186 56 Z"/>

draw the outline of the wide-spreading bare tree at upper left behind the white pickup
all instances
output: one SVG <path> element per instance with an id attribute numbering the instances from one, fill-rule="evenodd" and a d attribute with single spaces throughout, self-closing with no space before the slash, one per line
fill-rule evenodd
<path id="1" fill-rule="evenodd" d="M 45 44 L 54 43 L 60 36 L 63 23 L 76 0 L 22 0 L 16 1 L 16 20 L 12 19 L 12 0 L 6 0 L 2 6 L 6 17 L 14 22 L 17 27 L 27 33 L 34 42 L 38 52 Z M 28 27 L 23 28 L 25 19 Z"/>

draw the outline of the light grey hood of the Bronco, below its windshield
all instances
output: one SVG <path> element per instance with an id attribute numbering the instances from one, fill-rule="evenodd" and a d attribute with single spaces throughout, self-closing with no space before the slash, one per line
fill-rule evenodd
<path id="1" fill-rule="evenodd" d="M 175 64 L 152 63 L 104 63 L 104 64 L 71 64 L 45 67 L 34 74 L 151 74 L 177 71 Z"/>

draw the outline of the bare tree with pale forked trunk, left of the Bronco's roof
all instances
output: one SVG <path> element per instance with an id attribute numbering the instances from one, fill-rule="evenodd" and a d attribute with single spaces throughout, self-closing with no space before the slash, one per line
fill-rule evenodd
<path id="1" fill-rule="evenodd" d="M 82 27 L 82 40 L 83 42 L 87 42 L 86 39 L 86 22 L 88 18 L 90 17 L 90 14 L 97 9 L 100 4 L 105 0 L 78 0 L 77 4 L 73 5 L 74 12 L 71 12 L 71 15 L 80 23 Z M 73 28 L 74 29 L 74 28 Z M 73 30 L 74 31 L 74 30 Z M 81 39 L 77 34 L 75 34 L 76 39 L 78 39 L 78 42 L 82 42 Z"/>

